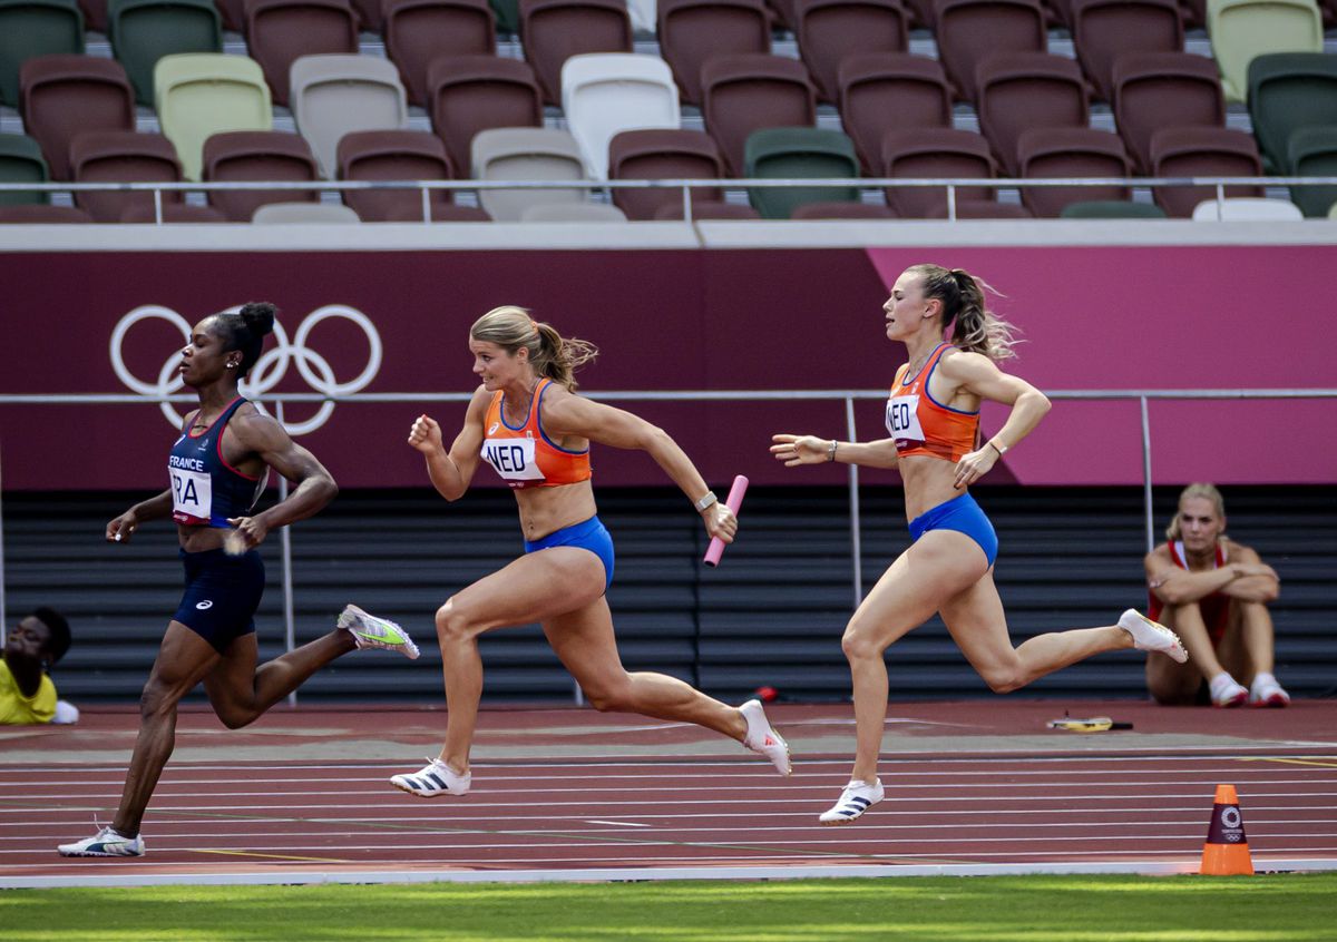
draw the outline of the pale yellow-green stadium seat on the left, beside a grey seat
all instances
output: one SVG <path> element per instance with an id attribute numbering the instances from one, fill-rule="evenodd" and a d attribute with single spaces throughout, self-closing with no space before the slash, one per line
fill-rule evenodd
<path id="1" fill-rule="evenodd" d="M 163 56 L 154 67 L 154 102 L 187 180 L 199 179 L 203 146 L 213 135 L 274 126 L 265 75 L 259 63 L 246 56 Z"/>

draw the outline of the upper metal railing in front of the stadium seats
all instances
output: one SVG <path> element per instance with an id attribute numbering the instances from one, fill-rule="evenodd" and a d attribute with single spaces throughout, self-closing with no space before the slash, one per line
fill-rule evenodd
<path id="1" fill-rule="evenodd" d="M 1227 187 L 1316 187 L 1337 186 L 1337 176 L 1083 176 L 1083 178 L 721 178 L 721 179 L 660 179 L 660 180 L 274 180 L 274 182 L 179 182 L 179 183 L 0 183 L 3 192 L 151 192 L 154 219 L 163 222 L 163 194 L 166 192 L 227 192 L 227 191 L 316 191 L 349 192 L 360 190 L 417 190 L 421 192 L 422 222 L 432 222 L 432 192 L 481 190 L 679 190 L 682 191 L 683 219 L 691 222 L 691 190 L 694 188 L 861 188 L 886 187 L 933 188 L 947 191 L 947 218 L 955 220 L 956 191 L 963 187 L 989 190 L 1027 190 L 1032 187 L 1213 187 L 1218 204 L 1226 199 Z"/>

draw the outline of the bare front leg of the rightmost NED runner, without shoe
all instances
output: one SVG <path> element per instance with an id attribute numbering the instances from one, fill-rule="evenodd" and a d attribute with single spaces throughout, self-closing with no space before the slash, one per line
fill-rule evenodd
<path id="1" fill-rule="evenodd" d="M 947 537 L 947 538 L 944 538 Z M 960 553 L 960 537 L 975 555 Z M 927 621 L 939 605 L 975 583 L 988 563 L 975 541 L 960 533 L 925 533 L 877 580 L 845 627 L 841 648 L 854 691 L 854 770 L 852 779 L 873 782 L 886 724 L 886 648 Z"/>

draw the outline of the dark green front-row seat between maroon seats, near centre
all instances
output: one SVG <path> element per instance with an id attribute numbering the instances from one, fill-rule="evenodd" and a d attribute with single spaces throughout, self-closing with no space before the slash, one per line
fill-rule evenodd
<path id="1" fill-rule="evenodd" d="M 858 176 L 854 142 L 840 131 L 771 127 L 753 131 L 743 146 L 743 175 L 759 179 Z M 789 219 L 804 203 L 857 203 L 858 187 L 749 187 L 762 219 Z"/>

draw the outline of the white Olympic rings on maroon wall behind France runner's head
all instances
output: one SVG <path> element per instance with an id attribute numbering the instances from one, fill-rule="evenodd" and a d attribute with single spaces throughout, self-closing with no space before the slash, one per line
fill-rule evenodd
<path id="1" fill-rule="evenodd" d="M 226 309 L 226 313 L 231 314 L 238 310 L 241 310 L 239 306 L 229 307 Z M 332 317 L 352 321 L 366 337 L 366 366 L 364 366 L 362 371 L 348 382 L 338 382 L 334 378 L 334 370 L 330 367 L 329 361 L 308 346 L 312 331 L 317 327 L 317 325 Z M 180 374 L 176 371 L 176 367 L 180 363 L 178 353 L 172 351 L 172 354 L 163 362 L 162 369 L 158 371 L 156 382 L 146 382 L 131 373 L 126 366 L 124 354 L 122 353 L 122 346 L 124 345 L 126 335 L 130 330 L 140 321 L 150 319 L 166 321 L 180 330 L 182 346 L 190 342 L 190 323 L 187 323 L 186 318 L 174 311 L 171 307 L 164 307 L 162 305 L 140 305 L 120 318 L 120 321 L 116 322 L 115 329 L 111 331 L 111 367 L 116 371 L 116 378 L 126 383 L 128 389 L 144 397 L 162 400 L 166 396 L 180 391 L 185 386 Z M 370 383 L 372 379 L 376 378 L 376 374 L 381 371 L 381 335 L 376 331 L 376 325 L 372 323 L 372 319 L 366 317 L 366 314 L 356 307 L 349 307 L 348 305 L 325 305 L 324 307 L 316 309 L 308 314 L 306 319 L 297 327 L 297 334 L 291 341 L 287 339 L 287 331 L 283 330 L 283 325 L 275 321 L 274 339 L 277 341 L 275 346 L 261 354 L 255 366 L 251 367 L 250 375 L 242 379 L 238 385 L 242 396 L 253 398 L 263 396 L 269 390 L 274 389 L 274 386 L 282 382 L 283 377 L 287 374 L 290 363 L 295 363 L 297 371 L 314 391 L 324 393 L 325 396 L 350 396 L 353 393 L 360 393 L 366 389 L 368 383 Z M 178 416 L 171 402 L 164 401 L 159 405 L 162 408 L 163 417 L 171 422 L 174 429 L 179 429 L 180 424 L 185 421 L 185 416 Z M 259 404 L 257 404 L 257 406 L 259 406 Z M 325 425 L 333 412 L 333 402 L 322 402 L 314 416 L 303 422 L 285 422 L 285 428 L 289 434 L 303 436 Z"/>

